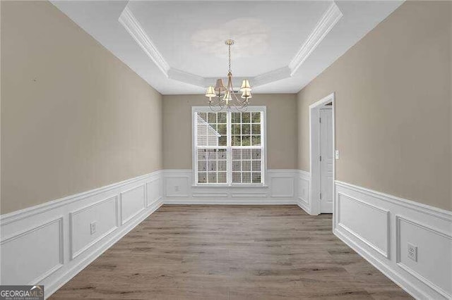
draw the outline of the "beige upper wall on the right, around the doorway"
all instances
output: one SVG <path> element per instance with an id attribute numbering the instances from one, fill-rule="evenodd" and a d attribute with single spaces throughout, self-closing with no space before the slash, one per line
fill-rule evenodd
<path id="1" fill-rule="evenodd" d="M 408 1 L 298 94 L 298 166 L 309 104 L 335 92 L 336 178 L 452 210 L 450 1 Z"/>

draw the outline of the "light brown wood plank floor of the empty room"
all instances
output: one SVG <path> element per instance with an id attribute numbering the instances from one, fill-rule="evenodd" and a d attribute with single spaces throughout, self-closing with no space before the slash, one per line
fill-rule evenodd
<path id="1" fill-rule="evenodd" d="M 297 206 L 162 206 L 51 299 L 405 299 Z"/>

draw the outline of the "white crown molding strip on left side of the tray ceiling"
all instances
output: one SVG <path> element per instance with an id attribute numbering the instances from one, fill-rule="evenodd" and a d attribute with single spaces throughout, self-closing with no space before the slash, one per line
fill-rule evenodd
<path id="1" fill-rule="evenodd" d="M 152 40 L 148 37 L 143 27 L 141 27 L 138 20 L 131 12 L 131 10 L 126 6 L 121 15 L 119 15 L 119 23 L 124 26 L 124 28 L 129 32 L 129 34 L 135 39 L 138 45 L 148 54 L 150 59 L 157 65 L 157 67 L 168 77 L 168 71 L 170 69 L 169 64 L 165 61 L 162 54 L 157 50 Z"/>

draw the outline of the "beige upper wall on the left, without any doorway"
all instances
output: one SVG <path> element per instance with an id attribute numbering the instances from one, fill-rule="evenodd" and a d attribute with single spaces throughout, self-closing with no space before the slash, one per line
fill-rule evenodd
<path id="1" fill-rule="evenodd" d="M 1 213 L 162 168 L 162 96 L 47 1 L 1 1 Z"/>

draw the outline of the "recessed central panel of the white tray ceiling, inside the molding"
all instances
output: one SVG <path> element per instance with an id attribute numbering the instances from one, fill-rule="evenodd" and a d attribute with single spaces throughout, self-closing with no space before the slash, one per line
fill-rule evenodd
<path id="1" fill-rule="evenodd" d="M 167 63 L 201 77 L 254 77 L 287 66 L 331 1 L 130 1 Z"/>

